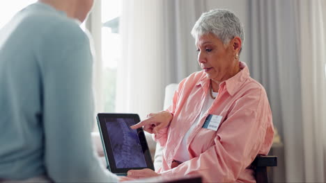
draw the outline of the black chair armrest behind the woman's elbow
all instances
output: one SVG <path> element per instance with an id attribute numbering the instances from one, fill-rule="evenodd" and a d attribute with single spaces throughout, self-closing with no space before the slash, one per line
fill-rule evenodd
<path id="1" fill-rule="evenodd" d="M 251 165 L 254 166 L 256 182 L 268 183 L 267 166 L 277 166 L 277 157 L 258 155 Z"/>

